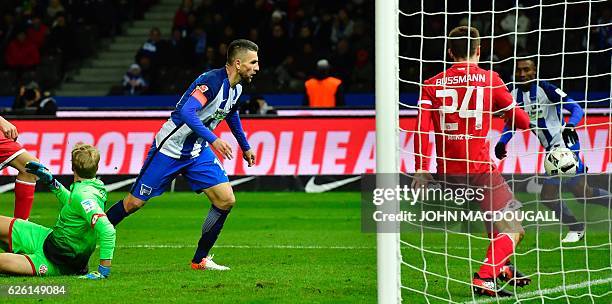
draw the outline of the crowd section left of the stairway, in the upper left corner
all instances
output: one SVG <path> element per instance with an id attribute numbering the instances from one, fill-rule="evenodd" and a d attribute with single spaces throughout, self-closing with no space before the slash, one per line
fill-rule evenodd
<path id="1" fill-rule="evenodd" d="M 121 33 L 121 24 L 142 18 L 154 0 L 0 1 L 0 95 L 14 95 L 37 81 L 60 84 L 67 70 L 95 55 L 100 38 Z"/>

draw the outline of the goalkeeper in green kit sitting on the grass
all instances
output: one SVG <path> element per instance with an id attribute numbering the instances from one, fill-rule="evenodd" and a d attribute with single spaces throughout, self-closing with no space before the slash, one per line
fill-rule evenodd
<path id="1" fill-rule="evenodd" d="M 81 278 L 109 276 L 115 249 L 115 228 L 104 214 L 106 189 L 96 179 L 100 153 L 91 145 L 72 149 L 74 183 L 68 191 L 49 170 L 36 162 L 26 169 L 46 183 L 61 204 L 53 229 L 0 216 L 0 273 L 30 276 L 84 274 Z M 98 271 L 87 274 L 89 257 L 100 244 Z"/>

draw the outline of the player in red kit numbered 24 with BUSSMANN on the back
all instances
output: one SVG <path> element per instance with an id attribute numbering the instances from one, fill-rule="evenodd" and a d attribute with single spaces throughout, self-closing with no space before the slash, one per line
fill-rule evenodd
<path id="1" fill-rule="evenodd" d="M 483 211 L 514 211 L 521 204 L 514 199 L 492 162 L 486 136 L 493 114 L 503 114 L 509 126 L 520 129 L 529 128 L 529 117 L 515 107 L 512 95 L 497 73 L 478 67 L 478 30 L 457 27 L 449 33 L 448 45 L 448 54 L 455 64 L 426 80 L 419 100 L 413 187 L 426 186 L 432 179 L 426 155 L 429 155 L 429 132 L 433 122 L 438 173 L 446 174 L 447 180 L 454 175 L 468 186 L 482 188 Z M 472 285 L 478 294 L 511 296 L 510 292 L 497 290 L 496 279 L 512 281 L 517 286 L 529 284 L 530 279 L 518 273 L 509 262 L 524 230 L 518 221 L 498 221 L 493 231 L 499 233 L 493 233 L 485 263 L 474 274 Z"/>

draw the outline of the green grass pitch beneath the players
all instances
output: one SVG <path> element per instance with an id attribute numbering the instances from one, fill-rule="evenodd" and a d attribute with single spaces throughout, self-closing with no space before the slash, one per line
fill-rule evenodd
<path id="1" fill-rule="evenodd" d="M 111 193 L 109 201 L 114 202 L 123 195 Z M 237 207 L 213 248 L 215 260 L 230 266 L 229 272 L 197 272 L 189 268 L 209 203 L 204 196 L 192 193 L 167 193 L 117 227 L 117 249 L 110 279 L 94 282 L 74 277 L 0 276 L 0 286 L 67 286 L 66 296 L 45 297 L 43 303 L 376 302 L 376 236 L 361 232 L 359 193 L 239 192 L 236 197 Z M 521 199 L 529 197 L 523 195 Z M 12 215 L 12 205 L 12 194 L 0 195 L 0 214 Z M 570 206 L 581 208 L 574 202 Z M 589 212 L 606 211 L 596 206 L 589 207 Z M 48 193 L 38 193 L 31 220 L 51 226 L 57 214 L 54 198 Z M 402 240 L 421 244 L 421 236 L 416 233 L 403 233 Z M 471 246 L 472 258 L 481 260 L 488 243 L 457 235 L 446 238 L 440 233 L 426 233 L 422 240 L 429 252 L 402 248 L 404 262 L 412 265 L 402 266 L 402 285 L 426 290 L 430 296 L 426 299 L 422 294 L 404 289 L 404 301 L 411 304 L 446 303 L 441 299 L 472 301 L 467 285 L 446 278 L 467 282 L 478 265 L 470 265 L 461 257 L 469 256 Z M 534 278 L 532 286 L 518 289 L 517 293 L 533 296 L 543 290 L 551 298 L 565 293 L 570 296 L 605 294 L 612 290 L 609 242 L 610 235 L 605 230 L 592 232 L 587 234 L 586 245 L 591 246 L 588 254 L 584 249 L 564 248 L 561 255 L 559 250 L 546 251 L 559 246 L 558 231 L 528 230 L 518 249 L 525 254 L 513 260 L 524 272 L 539 270 L 542 275 Z M 544 250 L 535 251 L 536 244 Z M 444 252 L 448 254 L 440 254 Z M 96 265 L 94 255 L 90 268 L 95 269 Z M 590 272 L 584 271 L 587 266 Z M 565 275 L 549 274 L 561 271 L 562 267 Z M 564 282 L 570 287 L 565 292 L 559 289 Z M 40 301 L 0 297 L 0 303 L 12 302 Z M 521 303 L 542 303 L 542 300 L 538 297 Z M 568 303 L 568 300 L 545 300 L 544 303 Z M 569 303 L 612 303 L 612 295 L 570 298 Z"/>

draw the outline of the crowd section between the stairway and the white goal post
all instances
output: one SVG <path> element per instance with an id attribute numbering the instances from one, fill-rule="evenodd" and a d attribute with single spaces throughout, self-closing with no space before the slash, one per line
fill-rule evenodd
<path id="1" fill-rule="evenodd" d="M 223 1 L 184 0 L 173 26 L 152 28 L 135 56 L 148 93 L 177 93 L 171 81 L 185 80 L 225 64 L 227 44 L 236 38 L 258 43 L 262 71 L 259 92 L 303 92 L 317 61 L 350 91 L 373 90 L 373 8 L 371 0 Z M 164 38 L 169 37 L 169 38 Z M 182 84 L 181 84 L 182 85 Z M 126 83 L 125 91 L 131 85 Z"/>

